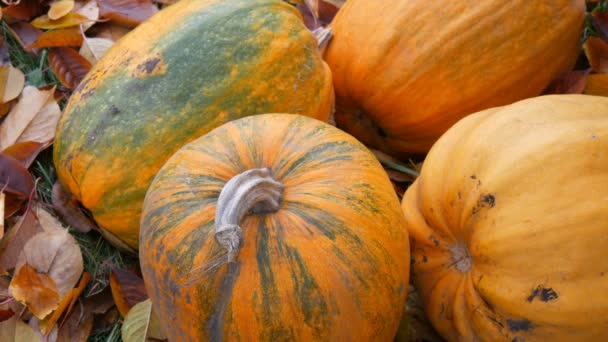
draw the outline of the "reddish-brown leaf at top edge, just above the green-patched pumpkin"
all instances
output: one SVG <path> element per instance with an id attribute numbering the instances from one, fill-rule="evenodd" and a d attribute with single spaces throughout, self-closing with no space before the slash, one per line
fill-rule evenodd
<path id="1" fill-rule="evenodd" d="M 150 0 L 98 0 L 102 18 L 126 26 L 135 27 L 158 12 Z"/>

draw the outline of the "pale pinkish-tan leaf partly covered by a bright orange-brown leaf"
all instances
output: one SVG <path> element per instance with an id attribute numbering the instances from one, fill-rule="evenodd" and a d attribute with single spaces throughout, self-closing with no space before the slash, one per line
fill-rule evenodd
<path id="1" fill-rule="evenodd" d="M 66 229 L 44 231 L 32 237 L 23 247 L 17 269 L 23 264 L 48 274 L 61 297 L 76 285 L 84 270 L 80 246 Z"/>

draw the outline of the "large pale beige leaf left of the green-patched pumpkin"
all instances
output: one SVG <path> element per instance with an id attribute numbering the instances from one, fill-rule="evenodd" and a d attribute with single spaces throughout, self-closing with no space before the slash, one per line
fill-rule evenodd
<path id="1" fill-rule="evenodd" d="M 52 97 L 54 91 L 34 86 L 23 89 L 19 102 L 0 124 L 0 149 L 21 141 L 46 142 L 54 137 L 61 116 Z"/>

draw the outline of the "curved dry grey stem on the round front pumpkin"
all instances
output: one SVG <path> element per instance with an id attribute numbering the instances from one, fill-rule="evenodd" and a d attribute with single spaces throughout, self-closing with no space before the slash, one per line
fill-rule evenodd
<path id="1" fill-rule="evenodd" d="M 267 167 L 247 170 L 224 185 L 215 212 L 215 240 L 228 251 L 229 262 L 241 246 L 241 220 L 248 214 L 279 210 L 284 189 Z"/>

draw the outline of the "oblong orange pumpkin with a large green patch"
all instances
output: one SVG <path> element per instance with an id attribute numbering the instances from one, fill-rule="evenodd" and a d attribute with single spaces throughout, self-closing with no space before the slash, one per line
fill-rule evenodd
<path id="1" fill-rule="evenodd" d="M 295 8 L 181 1 L 123 37 L 82 81 L 57 128 L 55 166 L 106 235 L 137 249 L 146 189 L 182 145 L 252 114 L 327 120 L 332 105 L 331 73 Z"/>

